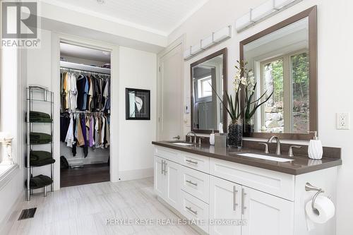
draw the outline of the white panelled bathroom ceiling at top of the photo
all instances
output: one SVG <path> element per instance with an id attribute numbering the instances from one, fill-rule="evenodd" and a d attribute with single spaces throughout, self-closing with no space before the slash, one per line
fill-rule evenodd
<path id="1" fill-rule="evenodd" d="M 208 0 L 103 0 L 104 4 L 97 0 L 42 1 L 167 36 Z"/>

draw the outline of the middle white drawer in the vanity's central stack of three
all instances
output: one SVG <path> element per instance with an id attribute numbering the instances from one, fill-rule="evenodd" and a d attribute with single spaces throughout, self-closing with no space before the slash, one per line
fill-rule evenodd
<path id="1" fill-rule="evenodd" d="M 181 189 L 208 203 L 209 175 L 189 167 L 181 167 Z"/>

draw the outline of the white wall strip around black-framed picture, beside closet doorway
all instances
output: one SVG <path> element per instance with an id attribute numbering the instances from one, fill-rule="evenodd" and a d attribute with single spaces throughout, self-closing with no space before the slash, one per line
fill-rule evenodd
<path id="1" fill-rule="evenodd" d="M 157 57 L 150 52 L 120 47 L 119 94 L 119 171 L 121 180 L 141 174 L 152 176 L 153 147 L 156 130 Z M 125 119 L 125 88 L 150 90 L 150 120 Z M 139 172 L 138 172 L 139 171 Z"/>

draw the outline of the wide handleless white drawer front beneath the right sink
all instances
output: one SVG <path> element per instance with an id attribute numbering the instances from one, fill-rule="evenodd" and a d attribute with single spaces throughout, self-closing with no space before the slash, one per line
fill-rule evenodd
<path id="1" fill-rule="evenodd" d="M 210 174 L 294 201 L 294 176 L 290 174 L 214 158 L 210 159 Z"/>

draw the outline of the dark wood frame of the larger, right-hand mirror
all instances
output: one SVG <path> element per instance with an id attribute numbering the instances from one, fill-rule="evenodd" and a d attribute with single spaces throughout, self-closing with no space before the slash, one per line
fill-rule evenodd
<path id="1" fill-rule="evenodd" d="M 240 42 L 240 61 L 244 60 L 244 45 L 249 42 L 253 42 L 265 35 L 280 30 L 287 25 L 290 25 L 298 20 L 308 17 L 309 19 L 309 129 L 310 131 L 318 131 L 318 77 L 317 77 L 317 6 L 313 6 L 301 13 L 298 13 L 295 16 L 283 20 L 276 25 L 271 26 L 261 32 L 256 33 L 251 37 L 246 38 Z M 254 138 L 269 138 L 272 135 L 277 135 L 282 139 L 287 140 L 310 140 L 313 137 L 313 134 L 309 133 L 250 133 L 250 137 Z"/>

